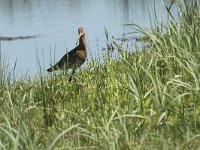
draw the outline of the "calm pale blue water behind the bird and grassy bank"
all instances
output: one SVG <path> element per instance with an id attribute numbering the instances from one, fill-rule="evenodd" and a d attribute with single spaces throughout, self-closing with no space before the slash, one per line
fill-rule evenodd
<path id="1" fill-rule="evenodd" d="M 155 1 L 161 18 L 162 2 Z M 1 53 L 9 59 L 10 68 L 16 62 L 18 73 L 35 75 L 36 58 L 44 69 L 48 68 L 54 58 L 59 60 L 66 49 L 75 47 L 77 29 L 83 26 L 90 57 L 98 57 L 106 44 L 104 27 L 116 38 L 130 31 L 124 29 L 126 23 L 150 27 L 148 8 L 152 6 L 153 0 L 0 0 L 1 36 L 41 35 L 1 41 Z"/>

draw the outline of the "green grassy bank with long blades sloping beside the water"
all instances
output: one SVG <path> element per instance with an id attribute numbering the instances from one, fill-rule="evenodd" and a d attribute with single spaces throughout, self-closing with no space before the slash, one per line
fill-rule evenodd
<path id="1" fill-rule="evenodd" d="M 199 149 L 200 2 L 176 5 L 177 21 L 156 31 L 129 25 L 148 49 L 114 42 L 117 60 L 91 61 L 71 83 L 11 81 L 2 65 L 0 149 Z"/>

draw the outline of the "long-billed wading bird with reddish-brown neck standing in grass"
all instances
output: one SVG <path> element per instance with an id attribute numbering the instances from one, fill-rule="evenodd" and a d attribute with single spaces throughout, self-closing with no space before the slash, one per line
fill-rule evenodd
<path id="1" fill-rule="evenodd" d="M 83 27 L 78 29 L 78 34 L 78 46 L 66 53 L 54 66 L 47 69 L 48 72 L 52 72 L 54 70 L 72 69 L 73 74 L 75 70 L 86 61 L 86 33 Z"/>

